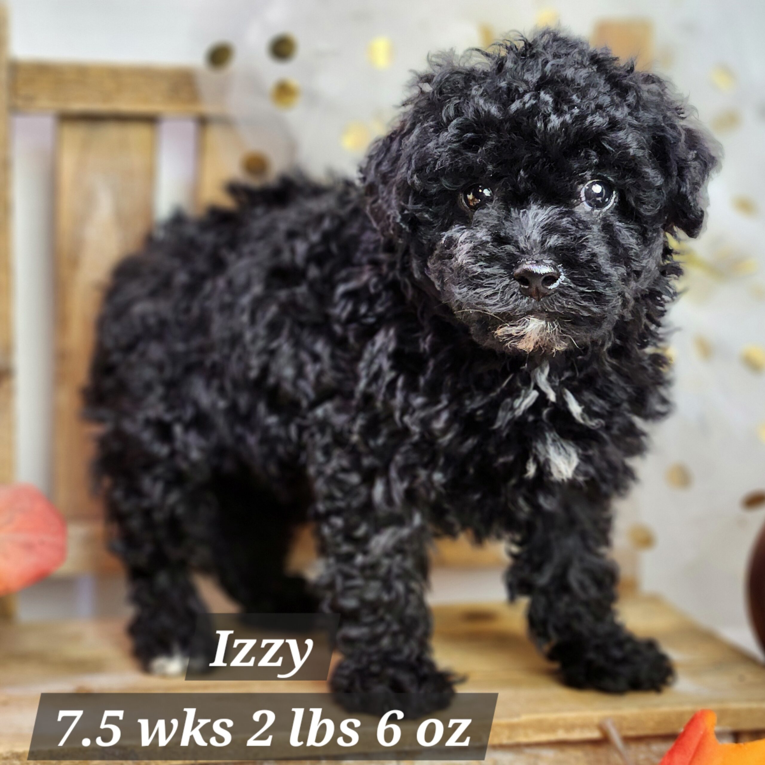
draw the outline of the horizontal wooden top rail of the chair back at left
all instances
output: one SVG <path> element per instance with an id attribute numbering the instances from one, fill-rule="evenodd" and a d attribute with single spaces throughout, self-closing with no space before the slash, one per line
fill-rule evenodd
<path id="1" fill-rule="evenodd" d="M 11 62 L 11 109 L 90 116 L 210 116 L 191 67 Z"/>

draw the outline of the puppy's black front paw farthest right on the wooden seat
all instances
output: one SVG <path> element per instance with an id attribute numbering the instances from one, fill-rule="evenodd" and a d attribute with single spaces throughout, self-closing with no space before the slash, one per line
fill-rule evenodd
<path id="1" fill-rule="evenodd" d="M 560 662 L 563 682 L 572 688 L 660 691 L 675 677 L 672 663 L 655 640 L 640 640 L 625 630 L 589 640 L 564 640 L 552 647 L 549 658 Z"/>

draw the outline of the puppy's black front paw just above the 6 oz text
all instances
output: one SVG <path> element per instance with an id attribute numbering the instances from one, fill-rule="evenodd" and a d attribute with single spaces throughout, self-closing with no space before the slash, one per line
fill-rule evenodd
<path id="1" fill-rule="evenodd" d="M 419 718 L 448 707 L 454 682 L 451 672 L 442 672 L 428 657 L 350 656 L 334 670 L 330 687 L 346 711 L 383 715 L 400 709 L 406 718 Z"/>

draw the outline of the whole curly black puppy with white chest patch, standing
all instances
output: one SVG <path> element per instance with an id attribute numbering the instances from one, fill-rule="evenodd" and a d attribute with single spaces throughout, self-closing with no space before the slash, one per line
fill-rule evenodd
<path id="1" fill-rule="evenodd" d="M 311 518 L 350 707 L 448 703 L 427 557 L 461 529 L 508 540 L 569 685 L 669 682 L 614 614 L 610 501 L 668 409 L 665 233 L 698 234 L 715 164 L 659 77 L 542 31 L 432 60 L 361 185 L 236 187 L 158 229 L 116 269 L 87 392 L 142 662 L 203 653 L 194 568 L 249 611 L 312 607 L 283 573 Z"/>

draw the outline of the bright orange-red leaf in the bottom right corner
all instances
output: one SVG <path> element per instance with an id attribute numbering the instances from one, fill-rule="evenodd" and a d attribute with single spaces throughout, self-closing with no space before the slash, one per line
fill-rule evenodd
<path id="1" fill-rule="evenodd" d="M 696 712 L 659 765 L 765 765 L 765 741 L 720 744 L 716 721 L 708 709 Z"/>

